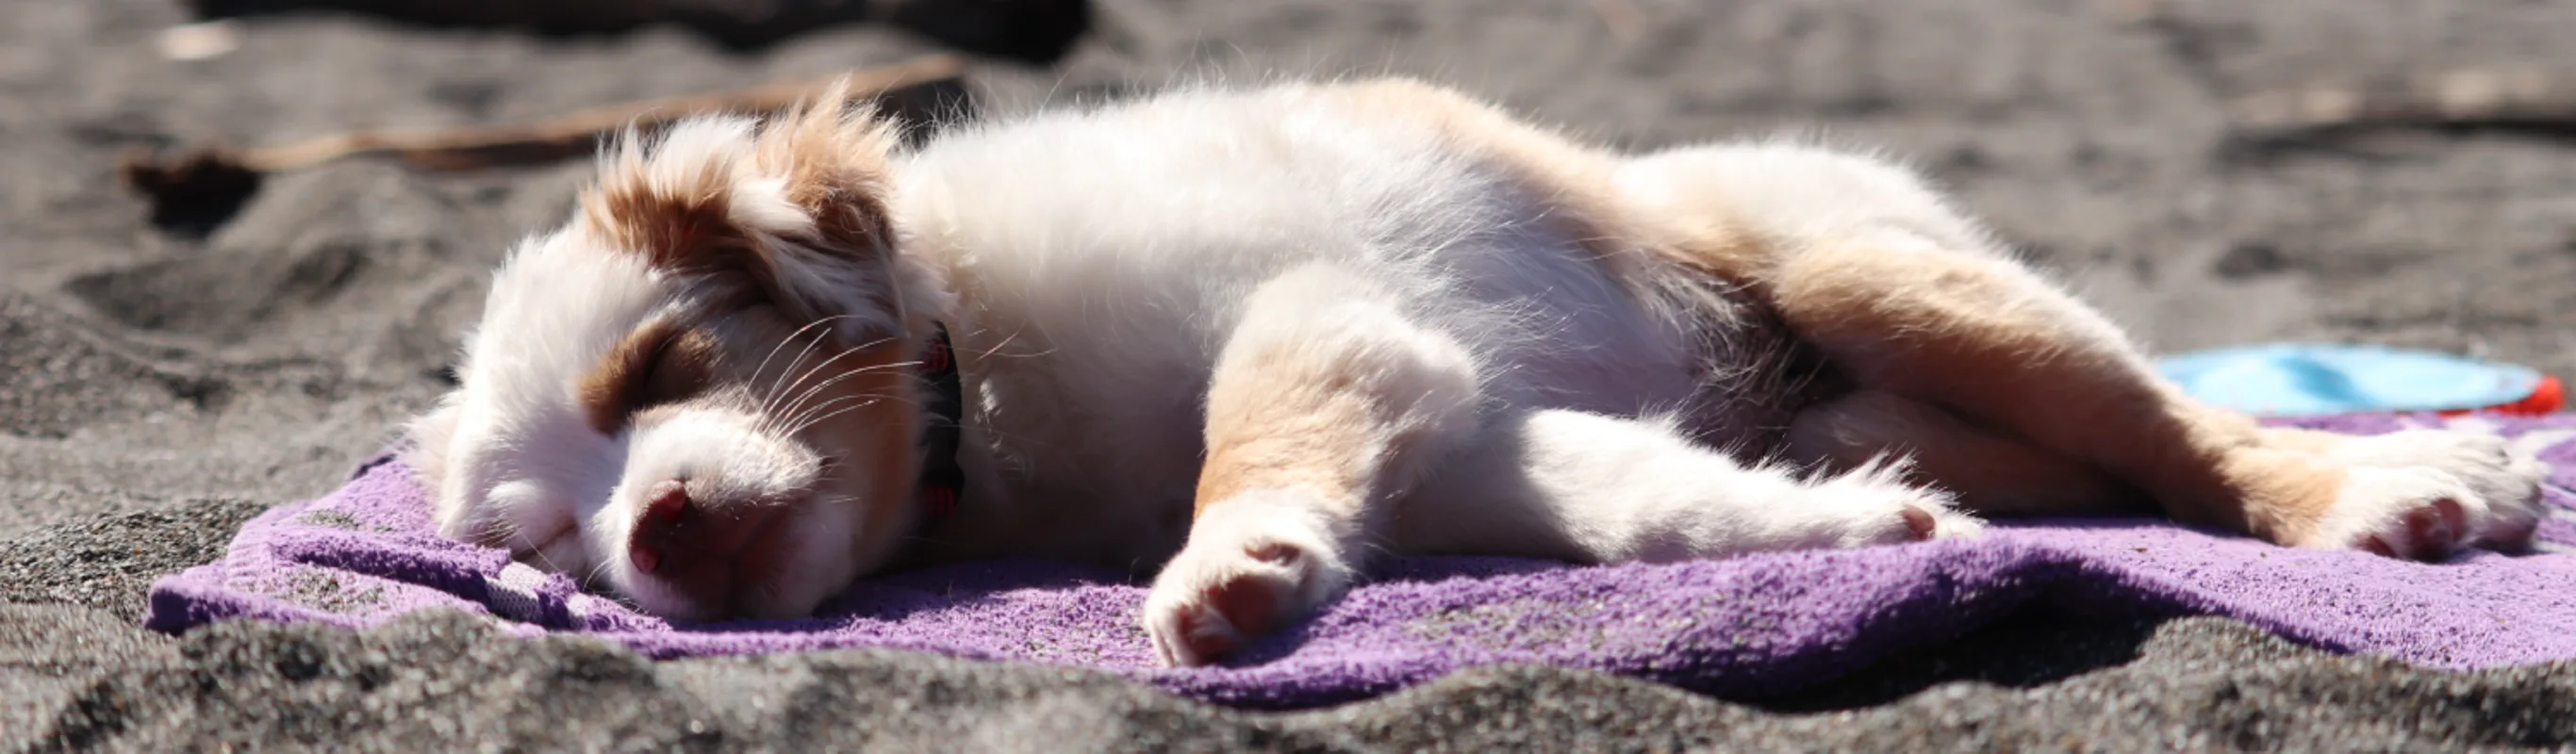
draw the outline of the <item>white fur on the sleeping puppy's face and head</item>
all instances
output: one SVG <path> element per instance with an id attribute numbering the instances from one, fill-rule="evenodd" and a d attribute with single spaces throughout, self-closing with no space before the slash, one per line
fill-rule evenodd
<path id="1" fill-rule="evenodd" d="M 688 193 L 724 185 L 734 224 L 760 234 L 806 234 L 814 219 L 788 203 L 773 175 L 752 167 L 752 121 L 701 118 L 672 126 L 647 147 L 629 139 L 605 157 L 608 170 L 644 175 L 647 185 Z M 889 280 L 817 260 L 811 250 L 781 250 L 791 280 L 819 299 L 855 299 Z M 662 615 L 685 615 L 685 600 L 641 574 L 626 558 L 626 538 L 641 510 L 641 489 L 662 479 L 690 479 L 701 499 L 788 499 L 811 494 L 819 461 L 778 437 L 762 417 L 683 409 L 662 422 L 600 435 L 582 419 L 580 378 L 634 327 L 654 317 L 690 317 L 685 280 L 652 270 L 631 250 L 611 250 L 580 224 L 523 242 L 492 278 L 484 317 L 466 342 L 459 373 L 469 386 L 451 394 L 415 425 L 415 443 L 435 484 L 440 535 L 513 548 L 554 571 L 600 576 Z M 845 306 L 827 324 L 853 340 L 904 327 L 894 311 Z M 860 340 L 863 342 L 863 340 Z M 791 353 L 788 368 L 827 365 L 824 355 Z M 804 376 L 804 373 L 793 373 Z M 811 381 L 783 383 L 804 389 Z M 781 407 L 791 407 L 781 401 Z M 848 551 L 855 515 L 801 507 L 804 528 L 791 528 L 791 566 L 765 594 L 742 600 L 760 612 L 801 612 L 842 587 L 858 569 Z"/>

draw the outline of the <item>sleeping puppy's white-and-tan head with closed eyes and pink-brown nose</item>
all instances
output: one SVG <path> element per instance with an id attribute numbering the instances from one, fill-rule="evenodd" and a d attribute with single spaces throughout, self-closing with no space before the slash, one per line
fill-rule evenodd
<path id="1" fill-rule="evenodd" d="M 894 252 L 891 142 L 811 106 L 616 147 L 412 425 L 438 530 L 677 620 L 804 615 L 884 564 L 930 296 Z"/>

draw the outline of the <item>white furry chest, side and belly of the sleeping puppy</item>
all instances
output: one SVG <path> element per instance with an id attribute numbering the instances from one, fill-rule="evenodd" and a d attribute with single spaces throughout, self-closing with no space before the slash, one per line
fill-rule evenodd
<path id="1" fill-rule="evenodd" d="M 1788 337 L 1623 278 L 1546 221 L 1551 188 L 1298 90 L 951 134 L 896 175 L 904 250 L 956 296 L 966 396 L 969 486 L 933 556 L 1146 571 L 1177 551 L 1211 365 L 1239 301 L 1296 265 L 1388 286 L 1468 345 L 1494 409 L 1680 414 L 1762 453 L 1793 386 Z"/>

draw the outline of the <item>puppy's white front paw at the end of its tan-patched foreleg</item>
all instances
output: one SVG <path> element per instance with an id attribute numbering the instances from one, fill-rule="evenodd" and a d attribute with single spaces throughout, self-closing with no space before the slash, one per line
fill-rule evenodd
<path id="1" fill-rule="evenodd" d="M 1293 494 L 1211 504 L 1144 600 L 1144 633 L 1172 667 L 1211 664 L 1350 587 L 1350 566 Z"/>

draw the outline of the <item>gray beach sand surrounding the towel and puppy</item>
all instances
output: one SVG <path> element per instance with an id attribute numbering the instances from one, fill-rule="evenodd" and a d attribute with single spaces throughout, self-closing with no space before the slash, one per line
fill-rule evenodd
<path id="1" fill-rule="evenodd" d="M 1208 75 L 1412 72 L 1625 147 L 1880 144 L 2156 347 L 2362 340 L 2576 373 L 2568 131 L 2249 139 L 2241 103 L 2460 69 L 2576 69 L 2576 5 L 1097 3 L 987 108 Z M 2429 749 L 2571 746 L 2576 664 L 2450 674 L 2228 620 L 2007 620 L 1790 700 L 1481 669 L 1244 713 L 1113 677 L 835 651 L 652 664 L 469 620 L 134 628 L 160 574 L 335 486 L 433 399 L 502 244 L 585 167 L 348 162 L 240 214 L 155 216 L 129 147 L 520 121 L 894 62 L 835 28 L 762 51 L 647 28 L 538 39 L 350 15 L 155 54 L 167 0 L 0 8 L 0 749 Z M 2558 85 L 2561 93 L 2576 87 Z"/>

